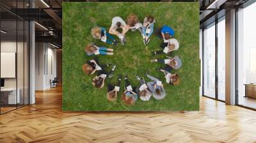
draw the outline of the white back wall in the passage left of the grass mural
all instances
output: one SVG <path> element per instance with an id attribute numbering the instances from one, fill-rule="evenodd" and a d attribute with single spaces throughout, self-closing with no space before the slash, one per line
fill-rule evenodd
<path id="1" fill-rule="evenodd" d="M 56 77 L 56 49 L 49 43 L 36 43 L 35 54 L 35 89 L 49 89 L 50 80 Z"/>

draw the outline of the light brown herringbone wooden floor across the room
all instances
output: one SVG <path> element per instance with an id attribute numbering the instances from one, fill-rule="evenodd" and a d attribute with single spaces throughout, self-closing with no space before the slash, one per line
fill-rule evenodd
<path id="1" fill-rule="evenodd" d="M 199 112 L 61 111 L 61 88 L 0 116 L 0 142 L 256 142 L 256 112 L 200 98 Z"/>

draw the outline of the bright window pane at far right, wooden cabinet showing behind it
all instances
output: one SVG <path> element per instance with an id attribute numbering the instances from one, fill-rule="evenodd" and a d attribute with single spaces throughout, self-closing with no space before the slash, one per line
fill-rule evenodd
<path id="1" fill-rule="evenodd" d="M 256 3 L 238 11 L 238 104 L 256 109 Z M 245 86 L 248 84 L 248 86 Z M 248 87 L 248 88 L 246 88 Z"/>

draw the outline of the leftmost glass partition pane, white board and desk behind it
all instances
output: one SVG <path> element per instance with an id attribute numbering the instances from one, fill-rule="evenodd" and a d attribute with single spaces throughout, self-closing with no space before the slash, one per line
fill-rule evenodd
<path id="1" fill-rule="evenodd" d="M 1 21 L 1 114 L 16 109 L 17 92 L 17 21 Z M 8 70 L 7 70 L 8 69 Z M 18 96 L 17 96 L 18 95 Z"/>

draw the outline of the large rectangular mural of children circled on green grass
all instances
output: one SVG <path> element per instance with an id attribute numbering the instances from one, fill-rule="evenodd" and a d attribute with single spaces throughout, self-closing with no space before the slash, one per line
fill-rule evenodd
<path id="1" fill-rule="evenodd" d="M 63 3 L 63 110 L 198 110 L 199 3 Z"/>

